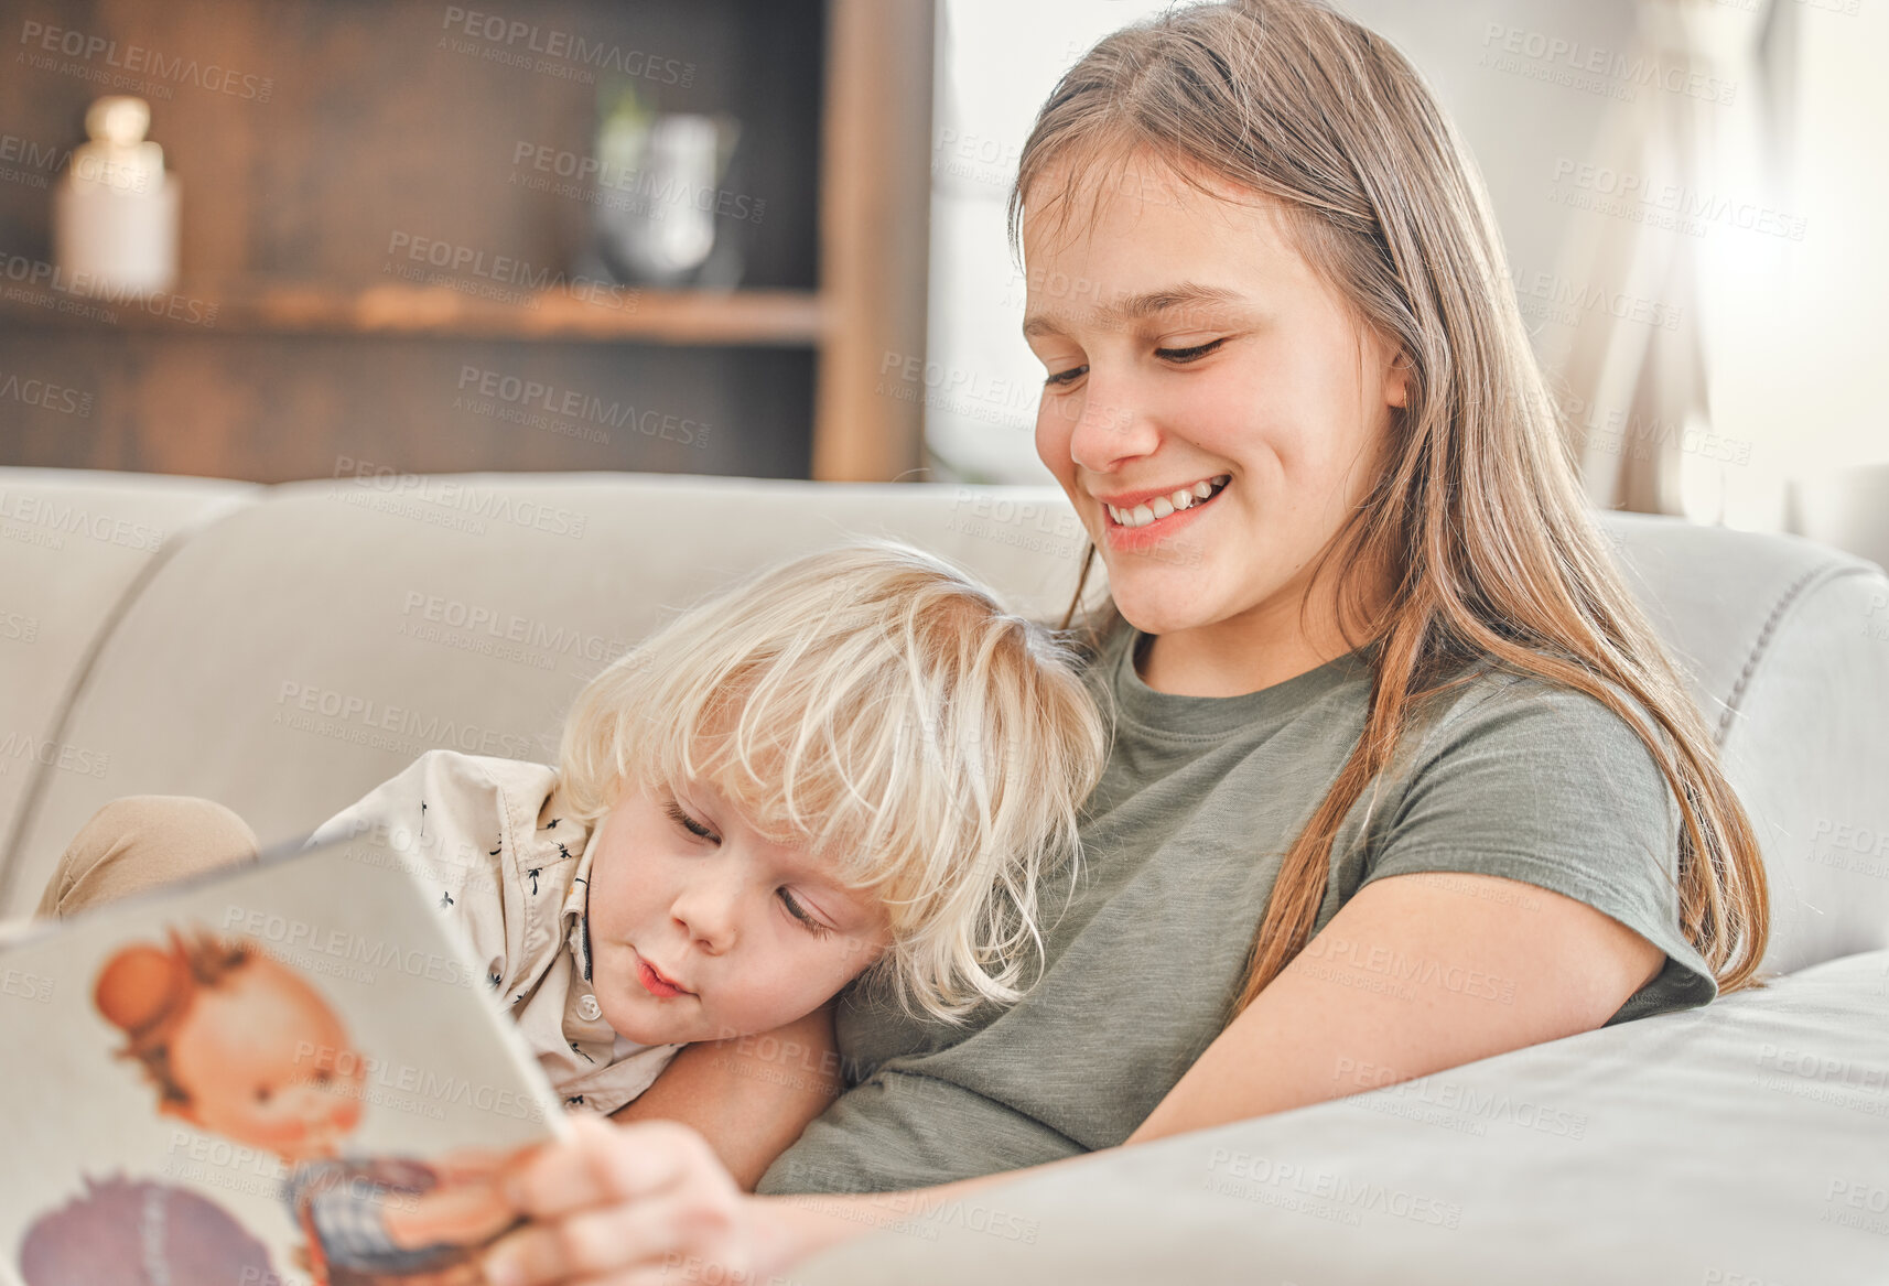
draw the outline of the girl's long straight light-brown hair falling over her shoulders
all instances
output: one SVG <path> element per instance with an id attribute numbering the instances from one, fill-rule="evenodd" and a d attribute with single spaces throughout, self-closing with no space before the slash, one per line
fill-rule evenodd
<path id="1" fill-rule="evenodd" d="M 1064 74 L 1037 115 L 1011 191 L 1013 245 L 1024 202 L 1043 196 L 1052 166 L 1062 193 L 1031 210 L 1048 204 L 1067 217 L 1084 176 L 1128 157 L 1154 159 L 1201 191 L 1232 181 L 1275 198 L 1305 261 L 1362 325 L 1402 347 L 1409 372 L 1375 487 L 1313 567 L 1320 584 L 1337 559 L 1339 631 L 1371 650 L 1364 733 L 1286 850 L 1232 1012 L 1305 948 L 1343 818 L 1421 702 L 1479 657 L 1583 691 L 1640 735 L 1683 816 L 1681 929 L 1721 993 L 1762 986 L 1770 908 L 1751 823 L 1604 550 L 1481 179 L 1411 64 L 1322 0 L 1201 4 L 1115 32 Z M 1377 619 L 1351 568 L 1390 568 Z M 1088 648 L 1120 625 L 1105 601 L 1082 625 Z"/>

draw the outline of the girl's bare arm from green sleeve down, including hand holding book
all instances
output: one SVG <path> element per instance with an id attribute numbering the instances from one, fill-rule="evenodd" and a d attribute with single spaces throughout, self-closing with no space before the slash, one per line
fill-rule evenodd
<path id="1" fill-rule="evenodd" d="M 1515 897 L 1523 888 L 1528 897 Z M 1228 1024 L 1122 1146 L 1600 1027 L 1662 961 L 1660 948 L 1617 920 L 1541 888 L 1475 874 L 1375 880 Z M 705 1271 L 765 1280 L 878 1226 L 1090 1156 L 918 1192 L 756 1197 L 712 1173 L 714 1158 L 688 1131 L 586 1131 L 519 1167 L 518 1209 L 536 1222 L 501 1241 L 489 1267 L 518 1267 L 518 1277 L 493 1280 L 521 1286 L 682 1256 Z M 678 1220 L 691 1229 L 680 1248 Z"/>

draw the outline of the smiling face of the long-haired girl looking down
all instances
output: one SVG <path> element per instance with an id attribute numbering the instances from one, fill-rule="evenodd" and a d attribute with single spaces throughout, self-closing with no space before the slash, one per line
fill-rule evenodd
<path id="1" fill-rule="evenodd" d="M 1330 612 L 1313 602 L 1307 636 L 1298 608 L 1404 404 L 1392 349 L 1353 323 L 1266 196 L 1201 193 L 1133 155 L 1067 200 L 1026 204 L 1022 225 L 1024 336 L 1048 370 L 1037 455 L 1116 606 L 1169 653 L 1339 655 Z"/>

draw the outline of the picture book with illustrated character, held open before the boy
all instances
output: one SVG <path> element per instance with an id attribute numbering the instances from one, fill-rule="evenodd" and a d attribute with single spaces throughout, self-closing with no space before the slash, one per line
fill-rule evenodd
<path id="1" fill-rule="evenodd" d="M 0 933 L 0 1282 L 444 1286 L 563 1108 L 395 854 L 289 846 Z"/>

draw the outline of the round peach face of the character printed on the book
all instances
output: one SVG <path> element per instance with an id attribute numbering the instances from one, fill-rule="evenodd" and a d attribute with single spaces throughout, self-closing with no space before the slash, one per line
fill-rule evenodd
<path id="1" fill-rule="evenodd" d="M 196 993 L 170 1069 L 191 1095 L 179 1116 L 287 1161 L 334 1156 L 361 1120 L 363 1059 L 334 1010 L 268 957 Z"/>

